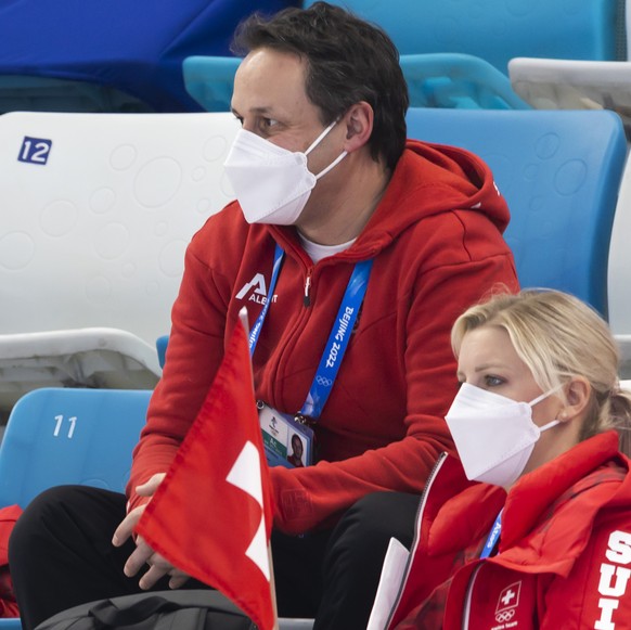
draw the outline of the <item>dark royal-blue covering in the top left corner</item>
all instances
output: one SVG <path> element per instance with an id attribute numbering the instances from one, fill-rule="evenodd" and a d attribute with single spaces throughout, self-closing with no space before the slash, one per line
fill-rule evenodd
<path id="1" fill-rule="evenodd" d="M 0 75 L 107 86 L 156 112 L 201 111 L 182 80 L 193 54 L 228 55 L 237 23 L 297 0 L 3 0 Z"/>

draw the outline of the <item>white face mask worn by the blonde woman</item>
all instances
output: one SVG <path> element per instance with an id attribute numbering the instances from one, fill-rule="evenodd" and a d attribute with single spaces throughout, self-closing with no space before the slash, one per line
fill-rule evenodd
<path id="1" fill-rule="evenodd" d="M 532 422 L 532 407 L 555 390 L 517 402 L 462 384 L 445 420 L 469 480 L 506 488 L 519 478 L 541 433 L 558 424 Z"/>

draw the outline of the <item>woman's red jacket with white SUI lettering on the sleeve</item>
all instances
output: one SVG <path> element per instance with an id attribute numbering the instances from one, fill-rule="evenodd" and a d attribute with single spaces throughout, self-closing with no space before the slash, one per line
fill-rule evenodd
<path id="1" fill-rule="evenodd" d="M 414 561 L 389 627 L 631 628 L 630 463 L 610 430 L 525 475 L 506 496 L 471 485 L 447 458 L 428 483 Z M 499 554 L 480 560 L 502 506 Z"/>

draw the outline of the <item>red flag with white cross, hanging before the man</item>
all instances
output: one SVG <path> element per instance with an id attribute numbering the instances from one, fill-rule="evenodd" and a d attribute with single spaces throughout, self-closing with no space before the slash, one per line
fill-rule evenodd
<path id="1" fill-rule="evenodd" d="M 239 323 L 137 531 L 172 565 L 230 597 L 260 630 L 271 630 L 271 501 L 247 337 Z"/>

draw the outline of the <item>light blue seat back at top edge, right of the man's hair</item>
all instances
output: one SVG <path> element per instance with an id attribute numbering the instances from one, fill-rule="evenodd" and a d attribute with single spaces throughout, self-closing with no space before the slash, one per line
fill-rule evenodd
<path id="1" fill-rule="evenodd" d="M 310 7 L 316 0 L 305 0 Z M 507 73 L 514 56 L 617 59 L 614 0 L 331 0 L 379 24 L 401 54 L 462 52 Z"/>

